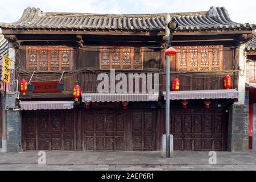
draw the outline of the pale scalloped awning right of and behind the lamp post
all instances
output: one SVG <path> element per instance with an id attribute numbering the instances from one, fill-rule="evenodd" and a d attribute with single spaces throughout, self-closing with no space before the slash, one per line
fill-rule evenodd
<path id="1" fill-rule="evenodd" d="M 166 100 L 166 92 L 163 92 Z M 205 98 L 238 98 L 238 91 L 231 90 L 188 90 L 188 91 L 171 91 L 170 100 L 188 100 L 188 99 L 205 99 Z"/>

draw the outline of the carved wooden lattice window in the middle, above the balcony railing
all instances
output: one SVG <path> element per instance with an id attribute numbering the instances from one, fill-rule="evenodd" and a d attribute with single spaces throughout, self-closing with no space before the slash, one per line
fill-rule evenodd
<path id="1" fill-rule="evenodd" d="M 141 47 L 102 46 L 101 69 L 143 69 Z"/>

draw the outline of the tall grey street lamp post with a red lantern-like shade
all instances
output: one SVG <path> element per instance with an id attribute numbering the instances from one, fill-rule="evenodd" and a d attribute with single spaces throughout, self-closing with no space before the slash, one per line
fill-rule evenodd
<path id="1" fill-rule="evenodd" d="M 178 27 L 177 21 L 173 18 L 168 23 L 170 29 L 170 35 L 166 43 L 166 158 L 173 158 L 173 136 L 170 135 L 170 61 L 172 61 L 174 55 L 176 55 L 176 49 L 171 47 L 173 32 Z M 172 140 L 172 141 L 170 141 Z M 171 144 L 171 145 L 170 145 Z"/>

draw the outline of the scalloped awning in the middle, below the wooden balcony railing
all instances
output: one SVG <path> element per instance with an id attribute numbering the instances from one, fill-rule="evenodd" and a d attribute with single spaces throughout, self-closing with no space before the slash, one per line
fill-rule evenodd
<path id="1" fill-rule="evenodd" d="M 82 102 L 158 101 L 158 93 L 82 93 Z"/>

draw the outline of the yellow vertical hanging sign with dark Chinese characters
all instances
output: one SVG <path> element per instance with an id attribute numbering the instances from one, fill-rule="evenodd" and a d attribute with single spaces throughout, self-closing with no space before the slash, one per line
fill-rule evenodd
<path id="1" fill-rule="evenodd" d="M 11 59 L 8 58 L 7 56 L 3 56 L 1 90 L 9 92 L 10 82 L 11 82 Z"/>

